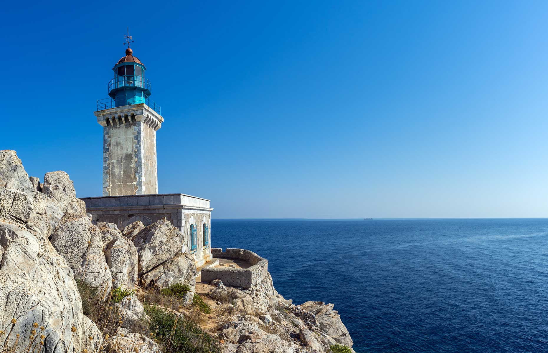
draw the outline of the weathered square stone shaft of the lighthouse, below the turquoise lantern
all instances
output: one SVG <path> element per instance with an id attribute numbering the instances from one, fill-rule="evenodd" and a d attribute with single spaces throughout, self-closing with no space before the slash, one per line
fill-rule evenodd
<path id="1" fill-rule="evenodd" d="M 103 195 L 156 194 L 161 115 L 140 103 L 97 111 L 95 116 L 103 126 Z"/>

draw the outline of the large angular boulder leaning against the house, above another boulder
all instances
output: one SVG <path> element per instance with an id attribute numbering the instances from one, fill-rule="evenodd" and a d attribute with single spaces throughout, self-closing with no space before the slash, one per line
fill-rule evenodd
<path id="1" fill-rule="evenodd" d="M 133 240 L 139 253 L 139 276 L 179 254 L 184 239 L 179 229 L 162 218 L 141 230 Z"/>

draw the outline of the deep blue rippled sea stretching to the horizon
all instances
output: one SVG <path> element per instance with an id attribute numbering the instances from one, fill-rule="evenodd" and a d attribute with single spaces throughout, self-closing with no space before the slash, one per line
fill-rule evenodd
<path id="1" fill-rule="evenodd" d="M 548 352 L 548 219 L 213 220 L 356 352 Z"/>

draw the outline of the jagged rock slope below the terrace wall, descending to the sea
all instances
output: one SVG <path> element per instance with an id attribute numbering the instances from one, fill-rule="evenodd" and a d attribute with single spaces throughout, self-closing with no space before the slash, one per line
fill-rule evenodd
<path id="1" fill-rule="evenodd" d="M 220 320 L 232 319 L 219 331 L 219 338 L 226 343 L 225 352 L 319 353 L 329 352 L 336 343 L 352 347 L 352 339 L 333 304 L 306 302 L 296 306 L 277 293 L 270 273 L 249 289 L 214 280 L 208 296 L 226 313 Z M 278 344 L 277 348 L 273 344 Z"/>

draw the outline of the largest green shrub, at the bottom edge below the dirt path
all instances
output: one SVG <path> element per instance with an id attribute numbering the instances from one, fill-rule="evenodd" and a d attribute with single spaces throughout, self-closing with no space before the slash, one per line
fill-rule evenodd
<path id="1" fill-rule="evenodd" d="M 164 353 L 219 353 L 217 339 L 204 332 L 186 317 L 175 316 L 157 305 L 145 304 L 150 316 L 150 332 L 162 345 Z"/>

